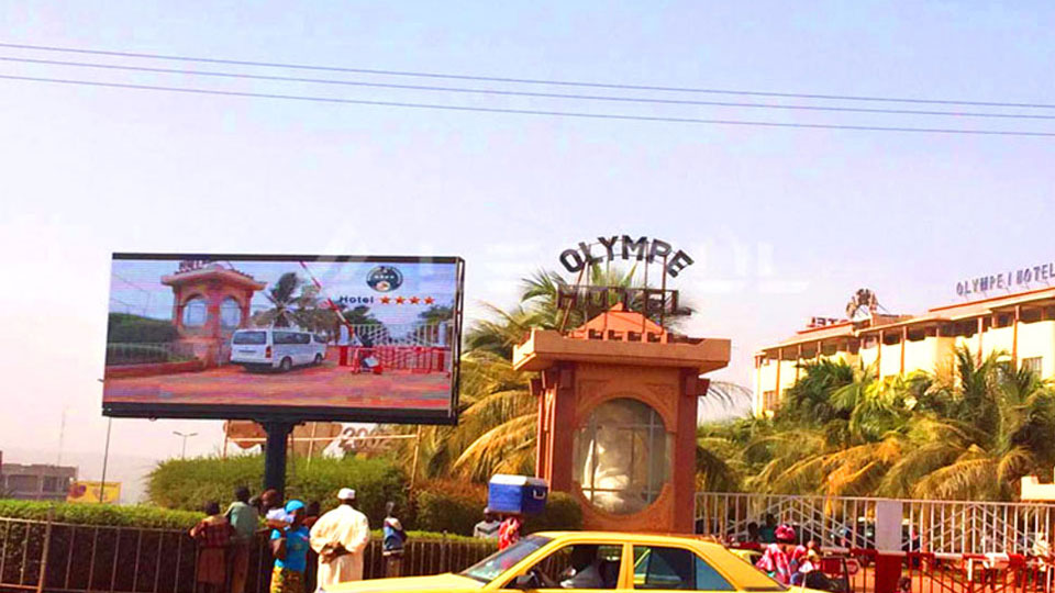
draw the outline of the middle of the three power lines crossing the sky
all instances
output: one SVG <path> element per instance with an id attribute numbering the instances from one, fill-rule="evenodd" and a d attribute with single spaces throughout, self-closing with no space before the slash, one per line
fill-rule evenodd
<path id="1" fill-rule="evenodd" d="M 779 103 L 741 103 L 741 102 L 733 102 L 733 101 L 698 101 L 698 100 L 689 100 L 689 99 L 613 97 L 613 96 L 606 96 L 606 94 L 567 94 L 567 93 L 556 93 L 556 92 L 531 92 L 531 91 L 514 91 L 514 90 L 501 90 L 501 89 L 436 87 L 436 86 L 427 86 L 427 85 L 396 85 L 391 82 L 366 82 L 366 81 L 359 81 L 359 80 L 335 80 L 332 78 L 301 78 L 301 77 L 290 77 L 290 76 L 252 75 L 252 74 L 244 74 L 244 72 L 224 72 L 224 71 L 215 71 L 215 70 L 184 70 L 178 68 L 125 66 L 125 65 L 118 65 L 118 64 L 67 61 L 67 60 L 56 60 L 56 59 L 35 59 L 35 58 L 22 58 L 22 57 L 11 57 L 11 56 L 0 56 L 0 61 L 13 61 L 13 63 L 20 63 L 20 64 L 41 64 L 41 65 L 48 65 L 48 66 L 70 66 L 70 67 L 77 67 L 77 68 L 98 68 L 98 69 L 106 69 L 106 70 L 123 70 L 123 71 L 138 71 L 138 72 L 154 72 L 154 74 L 178 74 L 178 75 L 206 76 L 206 77 L 216 77 L 216 78 L 236 78 L 236 79 L 248 79 L 248 80 L 309 82 L 309 83 L 337 85 L 337 86 L 347 86 L 347 87 L 459 92 L 459 93 L 489 94 L 489 96 L 500 96 L 500 97 L 531 97 L 531 98 L 542 98 L 542 99 L 573 99 L 573 100 L 609 101 L 609 102 L 622 102 L 622 103 L 731 107 L 731 108 L 775 109 L 775 110 L 792 110 L 792 111 L 877 113 L 877 114 L 888 114 L 888 115 L 946 115 L 946 116 L 958 116 L 958 118 L 989 118 L 989 119 L 1012 119 L 1012 120 L 1014 119 L 1055 120 L 1055 115 L 1025 114 L 1025 113 L 926 111 L 926 110 L 911 110 L 911 109 L 849 108 L 849 107 L 834 107 L 834 105 L 785 105 Z"/>

